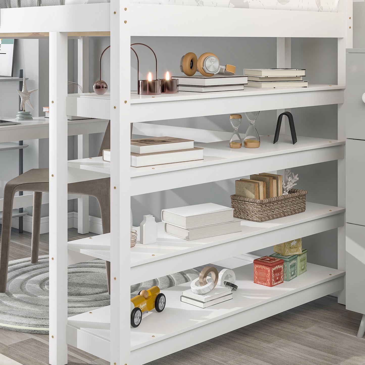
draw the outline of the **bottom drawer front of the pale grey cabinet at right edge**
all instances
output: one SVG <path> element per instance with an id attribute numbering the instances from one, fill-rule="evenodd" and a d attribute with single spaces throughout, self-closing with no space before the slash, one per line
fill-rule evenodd
<path id="1" fill-rule="evenodd" d="M 346 268 L 346 309 L 365 314 L 364 226 L 346 224 Z"/>

